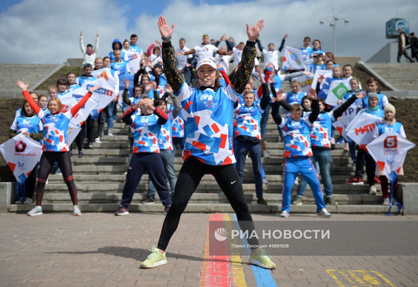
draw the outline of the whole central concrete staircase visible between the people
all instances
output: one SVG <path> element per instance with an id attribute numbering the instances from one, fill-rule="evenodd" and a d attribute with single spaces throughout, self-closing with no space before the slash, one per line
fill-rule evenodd
<path id="1" fill-rule="evenodd" d="M 73 164 L 74 181 L 77 186 L 78 201 L 82 212 L 88 211 L 115 211 L 122 198 L 122 189 L 125 184 L 128 150 L 127 126 L 120 123 L 121 112 L 118 112 L 118 122 L 113 127 L 114 136 L 102 136 L 101 143 L 94 143 L 94 149 L 84 149 L 84 157 L 78 158 L 74 146 Z M 97 130 L 97 129 L 96 129 Z M 105 128 L 105 133 L 107 129 Z M 338 133 L 337 133 L 338 134 Z M 338 138 L 338 136 L 337 136 Z M 267 148 L 272 156 L 262 159 L 268 184 L 264 185 L 264 198 L 267 206 L 258 205 L 255 196 L 254 176 L 252 174 L 251 159 L 245 164 L 243 188 L 245 198 L 252 212 L 279 212 L 281 208 L 281 189 L 283 182 L 283 143 L 278 142 L 278 130 L 273 121 L 267 125 Z M 378 195 L 369 195 L 369 186 L 351 186 L 344 181 L 354 175 L 352 160 L 344 144 L 336 144 L 331 151 L 331 178 L 334 189 L 334 199 L 339 203 L 336 206 L 327 206 L 330 212 L 336 213 L 384 213 L 387 206 L 382 206 L 380 185 L 376 185 Z M 182 164 L 181 151 L 177 150 L 175 170 L 178 173 Z M 365 174 L 365 173 L 364 173 Z M 321 179 L 321 176 L 320 176 Z M 366 176 L 364 180 L 366 179 Z M 130 211 L 162 212 L 163 206 L 156 194 L 154 204 L 143 204 L 148 189 L 148 175 L 144 174 L 137 188 Z M 296 196 L 298 185 L 293 188 L 292 199 Z M 45 211 L 72 211 L 71 199 L 62 175 L 51 174 L 45 188 L 43 197 Z M 28 211 L 32 206 L 10 206 L 11 212 Z M 315 212 L 316 205 L 311 189 L 308 186 L 303 205 L 291 206 L 291 212 Z M 393 209 L 396 211 L 396 207 Z M 191 197 L 186 212 L 233 212 L 226 197 L 219 189 L 213 176 L 206 175 Z"/>

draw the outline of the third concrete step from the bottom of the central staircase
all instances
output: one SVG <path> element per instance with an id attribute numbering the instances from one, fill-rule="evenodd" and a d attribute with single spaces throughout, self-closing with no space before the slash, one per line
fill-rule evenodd
<path id="1" fill-rule="evenodd" d="M 123 186 L 125 185 L 122 182 L 119 183 L 108 183 L 105 184 L 100 183 L 83 183 L 83 182 L 76 182 L 76 188 L 78 193 L 82 192 L 122 192 Z M 242 188 L 244 192 L 254 192 L 255 186 L 252 183 L 244 183 L 242 184 Z M 324 190 L 324 186 L 321 184 L 322 190 Z M 298 189 L 298 184 L 293 186 L 293 190 L 296 191 Z M 333 194 L 364 194 L 369 192 L 368 185 L 359 185 L 359 186 L 352 186 L 348 184 L 333 184 L 332 185 Z M 380 185 L 376 185 L 376 189 L 380 191 Z M 145 192 L 148 190 L 147 181 L 142 180 L 138 184 L 136 188 L 137 192 Z M 310 186 L 307 186 L 306 190 L 311 190 Z M 265 193 L 281 193 L 282 191 L 282 184 L 280 183 L 272 183 L 272 184 L 263 184 L 263 192 Z M 46 184 L 45 192 L 64 192 L 67 193 L 68 189 L 66 184 Z M 219 193 L 222 192 L 219 188 L 217 183 L 201 183 L 196 189 L 196 192 L 212 192 L 212 193 Z"/>

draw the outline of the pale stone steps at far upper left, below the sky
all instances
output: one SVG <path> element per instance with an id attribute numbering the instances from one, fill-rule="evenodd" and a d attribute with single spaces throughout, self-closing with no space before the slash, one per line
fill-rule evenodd
<path id="1" fill-rule="evenodd" d="M 62 64 L 5 64 L 0 63 L 0 97 L 13 97 L 15 93 L 20 93 L 20 88 L 16 85 L 18 80 L 29 83 L 31 88 L 51 71 Z"/>

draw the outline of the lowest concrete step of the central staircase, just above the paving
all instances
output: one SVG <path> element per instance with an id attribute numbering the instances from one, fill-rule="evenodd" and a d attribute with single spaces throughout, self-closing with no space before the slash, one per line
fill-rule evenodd
<path id="1" fill-rule="evenodd" d="M 11 204 L 9 207 L 10 212 L 26 213 L 33 208 L 34 204 Z M 80 204 L 81 211 L 84 212 L 115 212 L 118 209 L 119 204 Z M 44 204 L 42 206 L 44 212 L 69 212 L 73 211 L 72 204 Z M 248 204 L 250 212 L 265 212 L 277 214 L 280 212 L 281 205 L 279 204 Z M 380 204 L 339 204 L 327 206 L 327 210 L 332 213 L 344 213 L 344 214 L 384 214 L 387 212 L 388 207 Z M 141 204 L 133 203 L 129 206 L 130 212 L 163 212 L 163 206 L 160 204 Z M 392 212 L 398 211 L 397 206 L 392 207 Z M 234 212 L 232 207 L 227 203 L 189 203 L 185 212 L 198 212 L 198 213 L 216 213 L 216 212 Z M 316 205 L 303 204 L 292 205 L 291 214 L 296 213 L 315 213 Z M 278 218 L 279 219 L 279 218 Z M 122 219 L 121 219 L 122 220 Z M 326 220 L 326 219 L 324 219 Z"/>

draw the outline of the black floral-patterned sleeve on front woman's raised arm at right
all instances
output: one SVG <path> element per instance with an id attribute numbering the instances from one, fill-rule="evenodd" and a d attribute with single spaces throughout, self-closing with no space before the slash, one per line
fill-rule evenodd
<path id="1" fill-rule="evenodd" d="M 174 50 L 174 49 L 173 49 Z M 252 69 L 254 68 L 254 58 L 257 53 L 255 42 L 247 41 L 242 51 L 241 62 L 238 64 L 237 72 L 231 80 L 231 86 L 235 92 L 242 94 L 250 79 Z"/>

